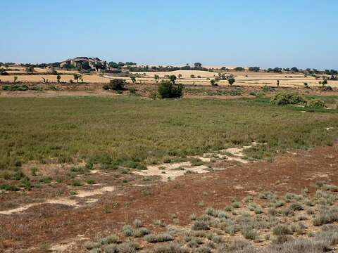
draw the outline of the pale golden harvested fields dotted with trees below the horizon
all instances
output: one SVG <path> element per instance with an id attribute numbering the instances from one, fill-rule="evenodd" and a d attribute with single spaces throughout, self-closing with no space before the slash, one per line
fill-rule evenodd
<path id="1" fill-rule="evenodd" d="M 18 74 L 19 82 L 42 82 L 43 78 L 48 79 L 49 82 L 56 82 L 55 74 L 23 74 L 25 73 L 24 67 L 8 67 L 13 69 L 13 71 L 8 70 L 8 76 L 1 76 L 0 80 L 2 82 L 13 82 L 15 74 Z M 44 68 L 35 68 L 35 72 L 44 73 L 47 72 L 47 69 Z M 73 74 L 77 71 L 75 70 L 58 70 L 61 73 L 61 82 L 69 82 L 70 79 L 73 79 Z M 210 79 L 218 77 L 218 72 L 208 72 L 208 71 L 199 71 L 199 70 L 177 70 L 170 72 L 131 72 L 131 74 L 139 74 L 142 77 L 137 77 L 137 82 L 140 84 L 149 84 L 155 83 L 154 75 L 158 74 L 160 79 L 165 78 L 166 75 L 175 74 L 177 77 L 177 83 L 180 84 L 196 84 L 196 85 L 210 85 Z M 181 78 L 178 78 L 179 74 L 182 75 Z M 289 74 L 289 73 L 268 73 L 268 72 L 227 72 L 226 74 L 234 75 L 236 79 L 235 85 L 237 86 L 277 86 L 277 80 L 280 80 L 280 86 L 282 87 L 303 87 L 304 83 L 308 83 L 308 86 L 319 86 L 318 82 L 320 79 L 315 79 L 314 77 L 308 76 L 304 77 L 303 74 Z M 192 78 L 191 76 L 194 75 Z M 82 74 L 84 82 L 87 83 L 108 83 L 110 79 L 113 78 L 122 78 L 130 82 L 130 77 L 117 77 L 110 76 L 109 74 L 104 75 L 103 77 L 97 73 L 93 74 Z M 328 76 L 327 76 L 328 77 Z M 75 80 L 73 79 L 73 82 Z M 338 87 L 338 81 L 328 81 L 328 84 L 332 87 Z M 227 80 L 220 80 L 218 82 L 220 86 L 227 86 Z"/>

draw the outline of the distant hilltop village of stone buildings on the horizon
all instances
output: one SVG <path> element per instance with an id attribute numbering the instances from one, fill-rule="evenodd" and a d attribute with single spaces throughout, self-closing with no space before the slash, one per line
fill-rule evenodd
<path id="1" fill-rule="evenodd" d="M 73 59 L 64 60 L 60 63 L 60 67 L 64 68 L 78 68 L 82 70 L 105 70 L 108 64 L 105 60 L 100 60 L 97 57 L 76 57 Z"/>

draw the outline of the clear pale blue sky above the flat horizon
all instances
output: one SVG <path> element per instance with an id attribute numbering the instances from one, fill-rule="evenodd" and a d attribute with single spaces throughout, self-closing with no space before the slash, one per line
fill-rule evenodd
<path id="1" fill-rule="evenodd" d="M 1 0 L 0 62 L 338 69 L 337 0 Z"/>

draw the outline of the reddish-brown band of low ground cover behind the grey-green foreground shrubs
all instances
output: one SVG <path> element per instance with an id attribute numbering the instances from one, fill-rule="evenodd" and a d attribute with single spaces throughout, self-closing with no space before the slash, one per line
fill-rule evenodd
<path id="1" fill-rule="evenodd" d="M 153 221 L 163 219 L 165 223 L 173 223 L 173 214 L 181 226 L 186 226 L 190 214 L 201 214 L 208 206 L 223 208 L 233 199 L 242 200 L 248 192 L 300 193 L 308 188 L 314 193 L 315 181 L 338 184 L 337 169 L 338 146 L 335 145 L 296 155 L 279 155 L 270 163 L 237 165 L 210 174 L 189 174 L 168 183 L 157 181 L 151 186 L 133 186 L 123 190 L 123 195 L 106 193 L 88 207 L 39 205 L 22 213 L 0 215 L 0 252 L 39 252 L 44 242 L 74 241 L 68 252 L 85 252 L 83 241 L 77 240 L 79 235 L 88 239 L 110 233 L 120 235 L 122 226 L 134 219 L 142 220 L 147 228 L 156 231 Z M 6 193 L 6 198 L 17 195 Z M 4 202 L 4 197 L 0 201 Z"/>

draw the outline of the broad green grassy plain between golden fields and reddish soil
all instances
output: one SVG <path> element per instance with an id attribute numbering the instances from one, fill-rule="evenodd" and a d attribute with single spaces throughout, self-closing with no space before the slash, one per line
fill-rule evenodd
<path id="1" fill-rule="evenodd" d="M 332 145 L 338 136 L 338 110 L 266 99 L 0 98 L 0 108 L 1 170 L 102 157 L 151 164 L 252 141 L 268 143 L 248 150 L 261 158 Z"/>

